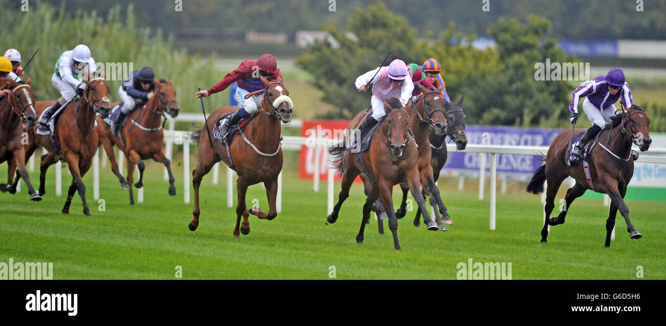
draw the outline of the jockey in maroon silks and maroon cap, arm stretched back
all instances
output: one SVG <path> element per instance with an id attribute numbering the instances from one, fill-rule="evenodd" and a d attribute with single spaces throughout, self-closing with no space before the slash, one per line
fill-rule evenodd
<path id="1" fill-rule="evenodd" d="M 248 99 L 244 96 L 253 91 L 262 91 L 266 89 L 266 85 L 262 83 L 259 76 L 268 79 L 268 81 L 282 81 L 282 72 L 278 69 L 278 63 L 275 57 L 270 54 L 264 54 L 256 61 L 245 60 L 238 65 L 238 69 L 227 73 L 224 79 L 216 83 L 213 87 L 206 91 L 196 92 L 196 97 L 206 97 L 208 95 L 224 91 L 226 87 L 231 85 L 234 81 L 238 84 L 236 89 L 236 101 L 240 104 L 240 109 L 234 112 L 230 118 L 224 120 L 220 125 L 220 135 L 224 137 L 231 125 L 234 125 L 244 117 L 249 117 L 254 114 L 261 105 L 261 100 L 264 92 L 258 92 Z"/>

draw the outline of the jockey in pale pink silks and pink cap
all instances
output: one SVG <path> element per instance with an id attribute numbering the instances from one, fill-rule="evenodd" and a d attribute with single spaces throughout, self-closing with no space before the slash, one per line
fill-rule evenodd
<path id="1" fill-rule="evenodd" d="M 404 106 L 412 97 L 412 91 L 414 91 L 414 83 L 404 82 L 408 77 L 407 65 L 404 61 L 395 59 L 388 67 L 372 69 L 356 78 L 356 89 L 360 91 L 366 91 L 368 85 L 374 83 L 372 85 L 372 97 L 370 98 L 372 114 L 366 117 L 358 129 L 370 128 L 386 115 L 384 109 L 384 100 L 386 99 L 398 97 L 404 109 Z"/>

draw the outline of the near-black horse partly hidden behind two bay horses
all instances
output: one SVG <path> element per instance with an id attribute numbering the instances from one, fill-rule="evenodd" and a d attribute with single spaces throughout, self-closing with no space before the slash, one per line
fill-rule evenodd
<path id="1" fill-rule="evenodd" d="M 448 158 L 448 150 L 446 149 L 446 136 L 448 136 L 454 143 L 456 143 L 456 149 L 462 151 L 467 146 L 467 136 L 465 135 L 465 113 L 462 110 L 462 102 L 465 97 L 461 97 L 458 103 L 449 103 L 446 102 L 444 109 L 446 109 L 446 121 L 448 125 L 446 127 L 446 135 L 438 135 L 434 131 L 430 131 L 430 147 L 432 147 L 432 154 L 430 155 L 430 165 L 432 165 L 432 171 L 434 173 L 434 179 L 437 181 L 440 179 L 440 171 L 446 163 Z M 400 203 L 400 208 L 396 211 L 396 216 L 398 219 L 406 214 L 406 203 L 407 203 L 407 191 L 409 188 L 406 185 L 401 184 L 402 188 L 402 203 Z M 432 204 L 432 197 L 430 199 L 430 205 L 435 207 Z M 451 217 L 448 214 L 446 206 L 442 203 L 440 207 L 440 214 L 442 214 L 442 220 L 444 224 L 453 224 Z M 418 227 L 420 225 L 421 211 L 416 211 L 416 217 L 414 217 L 414 226 Z"/>

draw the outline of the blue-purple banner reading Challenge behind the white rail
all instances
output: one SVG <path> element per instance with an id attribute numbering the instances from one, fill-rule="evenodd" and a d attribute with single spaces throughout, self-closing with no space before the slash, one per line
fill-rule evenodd
<path id="1" fill-rule="evenodd" d="M 465 128 L 468 144 L 475 145 L 549 146 L 561 131 L 562 129 L 476 125 L 468 125 Z M 488 153 L 449 151 L 449 157 L 442 171 L 445 173 L 447 171 L 478 173 L 481 155 L 486 155 L 486 169 L 490 169 L 490 154 Z M 529 177 L 542 163 L 536 155 L 498 154 L 497 164 L 498 173 L 511 174 L 516 177 Z"/>

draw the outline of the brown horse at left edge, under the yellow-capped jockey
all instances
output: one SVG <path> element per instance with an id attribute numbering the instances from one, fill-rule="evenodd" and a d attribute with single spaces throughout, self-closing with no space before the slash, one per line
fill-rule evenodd
<path id="1" fill-rule="evenodd" d="M 0 190 L 9 193 L 16 193 L 16 185 L 13 184 L 14 171 L 21 175 L 25 184 L 28 186 L 30 199 L 41 201 L 41 196 L 30 183 L 30 177 L 25 170 L 25 143 L 29 140 L 26 127 L 21 122 L 26 123 L 27 127 L 34 127 L 37 121 L 37 112 L 35 112 L 35 93 L 30 87 L 32 79 L 28 78 L 27 83 L 17 83 L 7 81 L 11 86 L 11 94 L 0 101 L 0 163 L 7 161 L 8 177 L 7 185 L 0 185 Z M 18 181 L 18 178 L 17 178 Z"/>

